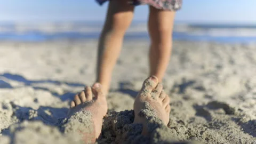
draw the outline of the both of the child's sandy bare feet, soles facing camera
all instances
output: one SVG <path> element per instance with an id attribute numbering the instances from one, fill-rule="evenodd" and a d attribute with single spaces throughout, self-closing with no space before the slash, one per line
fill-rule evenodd
<path id="1" fill-rule="evenodd" d="M 81 105 L 90 102 L 89 105 Z M 164 92 L 161 83 L 155 76 L 147 78 L 142 88 L 134 101 L 134 122 L 143 125 L 142 134 L 147 134 L 147 119 L 139 115 L 140 111 L 149 105 L 154 109 L 154 114 L 162 120 L 163 124 L 169 123 L 170 115 L 170 98 Z M 81 107 L 82 106 L 82 107 Z M 92 87 L 88 86 L 84 91 L 75 95 L 70 104 L 69 116 L 73 115 L 76 111 L 86 110 L 92 114 L 92 122 L 94 124 L 94 131 L 90 134 L 95 140 L 99 137 L 102 127 L 102 119 L 107 114 L 107 100 L 106 95 L 103 93 L 102 87 L 99 83 L 95 83 Z"/>

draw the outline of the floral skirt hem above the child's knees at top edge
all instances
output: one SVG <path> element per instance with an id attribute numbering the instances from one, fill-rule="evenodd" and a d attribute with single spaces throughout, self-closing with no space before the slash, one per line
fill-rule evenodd
<path id="1" fill-rule="evenodd" d="M 95 0 L 95 1 L 97 1 L 100 5 L 102 5 L 103 3 L 111 0 Z M 122 0 L 117 0 L 117 1 L 122 1 Z M 182 0 L 130 0 L 130 4 L 132 5 L 148 4 L 156 7 L 156 9 L 177 11 L 181 9 Z"/>

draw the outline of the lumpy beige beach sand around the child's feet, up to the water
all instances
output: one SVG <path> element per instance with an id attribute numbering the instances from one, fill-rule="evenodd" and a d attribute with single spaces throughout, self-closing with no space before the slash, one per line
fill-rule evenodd
<path id="1" fill-rule="evenodd" d="M 148 44 L 124 43 L 98 143 L 256 143 L 256 44 L 175 41 L 163 81 L 170 123 L 151 119 L 143 137 L 132 109 Z M 94 82 L 96 50 L 96 41 L 0 42 L 0 142 L 82 143 L 73 130 L 90 130 L 90 114 L 66 117 L 73 95 Z"/>

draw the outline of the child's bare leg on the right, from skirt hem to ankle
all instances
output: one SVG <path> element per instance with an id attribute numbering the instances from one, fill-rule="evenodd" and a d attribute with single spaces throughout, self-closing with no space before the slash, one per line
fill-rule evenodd
<path id="1" fill-rule="evenodd" d="M 151 39 L 150 75 L 162 82 L 172 50 L 172 29 L 175 12 L 158 10 L 150 6 L 148 31 Z"/>

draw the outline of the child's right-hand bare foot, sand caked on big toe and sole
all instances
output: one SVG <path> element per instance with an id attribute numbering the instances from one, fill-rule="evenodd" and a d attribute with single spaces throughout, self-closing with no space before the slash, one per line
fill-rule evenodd
<path id="1" fill-rule="evenodd" d="M 170 98 L 164 92 L 163 85 L 158 83 L 155 76 L 147 78 L 134 101 L 134 122 L 143 125 L 142 134 L 147 134 L 147 119 L 140 115 L 142 110 L 150 109 L 150 113 L 162 120 L 164 125 L 169 123 Z"/>

